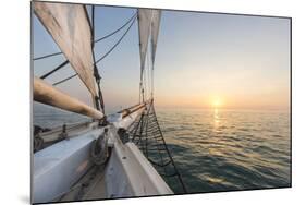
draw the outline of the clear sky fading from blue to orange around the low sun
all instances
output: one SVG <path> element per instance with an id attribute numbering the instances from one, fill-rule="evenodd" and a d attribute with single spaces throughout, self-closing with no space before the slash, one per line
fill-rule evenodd
<path id="1" fill-rule="evenodd" d="M 136 9 L 96 7 L 96 38 L 120 27 L 135 12 Z M 119 47 L 98 64 L 109 110 L 138 102 L 136 23 Z M 123 33 L 96 44 L 96 59 Z M 60 50 L 35 15 L 33 35 L 34 57 Z M 63 56 L 57 56 L 35 61 L 34 75 L 42 75 L 63 60 Z M 47 81 L 53 83 L 73 73 L 69 65 Z M 290 20 L 162 11 L 154 79 L 157 107 L 289 109 Z M 58 88 L 91 104 L 77 77 Z"/>

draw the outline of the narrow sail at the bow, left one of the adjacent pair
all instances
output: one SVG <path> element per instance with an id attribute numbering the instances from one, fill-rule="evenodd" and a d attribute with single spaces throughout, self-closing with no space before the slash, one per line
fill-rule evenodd
<path id="1" fill-rule="evenodd" d="M 140 73 L 143 76 L 143 70 L 145 67 L 148 39 L 150 35 L 152 10 L 138 9 L 138 32 L 139 32 L 139 47 L 140 47 Z"/>

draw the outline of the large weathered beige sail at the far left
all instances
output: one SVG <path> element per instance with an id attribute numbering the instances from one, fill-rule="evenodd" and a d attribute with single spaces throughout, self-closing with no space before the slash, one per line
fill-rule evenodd
<path id="1" fill-rule="evenodd" d="M 34 11 L 86 87 L 96 96 L 91 28 L 86 8 L 81 4 L 35 1 Z"/>

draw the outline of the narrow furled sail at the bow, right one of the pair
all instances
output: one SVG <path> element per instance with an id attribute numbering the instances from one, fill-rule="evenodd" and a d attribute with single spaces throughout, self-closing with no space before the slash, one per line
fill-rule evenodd
<path id="1" fill-rule="evenodd" d="M 152 10 L 152 19 L 151 19 L 151 60 L 155 62 L 155 53 L 157 48 L 157 39 L 159 33 L 161 10 Z"/>

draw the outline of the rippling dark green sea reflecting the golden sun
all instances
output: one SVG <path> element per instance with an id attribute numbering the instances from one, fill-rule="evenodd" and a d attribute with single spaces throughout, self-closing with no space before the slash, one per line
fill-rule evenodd
<path id="1" fill-rule="evenodd" d="M 34 106 L 34 124 L 52 128 L 63 122 L 88 121 L 46 108 Z M 291 185 L 289 112 L 156 111 L 188 193 Z M 170 186 L 179 190 L 175 183 Z"/>

